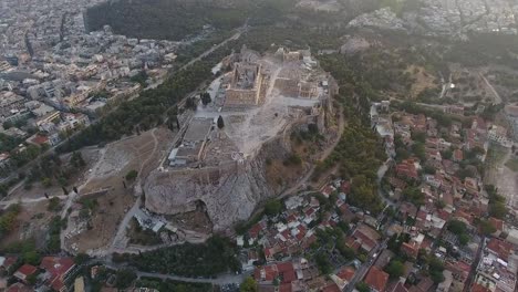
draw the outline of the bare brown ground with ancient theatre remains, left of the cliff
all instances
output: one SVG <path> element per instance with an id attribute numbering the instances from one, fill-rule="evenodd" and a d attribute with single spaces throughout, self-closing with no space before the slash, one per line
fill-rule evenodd
<path id="1" fill-rule="evenodd" d="M 172 132 L 156 128 L 108 144 L 82 186 L 80 195 L 89 197 L 87 194 L 99 190 L 107 192 L 95 195 L 99 208 L 91 217 L 91 229 L 72 237 L 65 244 L 75 243 L 79 251 L 107 247 L 124 215 L 136 200 L 134 188 L 139 189 L 141 181 L 152 169 L 158 167 L 172 140 Z M 138 178 L 133 184 L 126 182 L 124 187 L 124 177 L 130 170 L 137 170 Z M 73 229 L 72 226 L 66 231 Z"/>

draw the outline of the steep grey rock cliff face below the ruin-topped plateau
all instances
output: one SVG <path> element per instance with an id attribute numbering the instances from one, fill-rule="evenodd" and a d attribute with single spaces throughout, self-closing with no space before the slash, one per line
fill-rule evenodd
<path id="1" fill-rule="evenodd" d="M 242 164 L 229 161 L 218 168 L 153 171 L 146 180 L 146 208 L 176 215 L 205 204 L 214 231 L 231 230 L 247 220 L 256 206 L 274 196 L 266 178 L 266 160 L 283 159 L 290 153 L 282 137 L 262 145 L 259 153 Z M 282 175 L 282 174 L 279 174 Z"/>

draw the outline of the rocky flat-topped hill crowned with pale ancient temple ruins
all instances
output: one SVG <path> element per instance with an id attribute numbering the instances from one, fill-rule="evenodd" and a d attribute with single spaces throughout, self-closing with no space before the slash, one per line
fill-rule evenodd
<path id="1" fill-rule="evenodd" d="M 244 48 L 222 60 L 209 86 L 211 103 L 199 105 L 180 140 L 146 184 L 146 208 L 175 215 L 205 209 L 214 231 L 246 220 L 257 204 L 290 187 L 300 177 L 274 174 L 268 165 L 292 155 L 290 136 L 317 128 L 330 134 L 334 118 L 334 80 L 309 51 L 281 48 L 260 55 Z M 221 116 L 224 127 L 217 126 Z M 301 174 L 312 161 L 303 161 Z M 280 186 L 279 186 L 280 185 Z"/>

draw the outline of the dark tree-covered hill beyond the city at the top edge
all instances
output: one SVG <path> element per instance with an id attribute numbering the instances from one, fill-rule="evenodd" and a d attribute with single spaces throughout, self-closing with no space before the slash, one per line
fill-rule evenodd
<path id="1" fill-rule="evenodd" d="M 220 2 L 220 1 L 219 1 Z M 134 38 L 182 40 L 204 25 L 232 29 L 248 17 L 245 4 L 221 4 L 205 0 L 120 0 L 85 12 L 87 31 L 108 24 L 115 33 Z"/>

